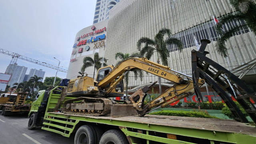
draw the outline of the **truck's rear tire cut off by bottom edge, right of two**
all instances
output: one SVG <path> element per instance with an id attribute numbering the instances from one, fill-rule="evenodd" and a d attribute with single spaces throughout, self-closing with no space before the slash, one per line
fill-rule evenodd
<path id="1" fill-rule="evenodd" d="M 108 130 L 100 138 L 99 144 L 129 144 L 121 130 Z"/>

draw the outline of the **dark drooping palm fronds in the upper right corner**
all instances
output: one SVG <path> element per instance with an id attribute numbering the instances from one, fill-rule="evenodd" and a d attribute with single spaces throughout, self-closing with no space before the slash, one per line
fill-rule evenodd
<path id="1" fill-rule="evenodd" d="M 256 3 L 252 0 L 229 0 L 230 4 L 235 8 L 234 14 L 228 14 L 222 16 L 218 24 L 216 25 L 216 31 L 220 34 L 220 38 L 217 40 L 215 46 L 217 52 L 224 57 L 227 57 L 226 41 L 233 36 L 235 32 L 238 32 L 240 28 L 248 26 L 254 34 L 256 34 Z M 234 20 L 244 20 L 245 23 L 235 26 L 230 30 L 223 31 L 222 25 Z"/>

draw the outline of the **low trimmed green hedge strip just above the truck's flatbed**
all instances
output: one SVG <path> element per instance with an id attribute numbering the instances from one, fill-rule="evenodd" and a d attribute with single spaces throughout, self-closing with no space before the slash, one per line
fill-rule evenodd
<path id="1" fill-rule="evenodd" d="M 153 115 L 163 116 L 184 116 L 184 117 L 196 117 L 196 118 L 217 118 L 216 116 L 210 116 L 207 112 L 193 112 L 193 111 L 181 111 L 181 110 L 162 110 L 159 112 L 152 112 Z"/>

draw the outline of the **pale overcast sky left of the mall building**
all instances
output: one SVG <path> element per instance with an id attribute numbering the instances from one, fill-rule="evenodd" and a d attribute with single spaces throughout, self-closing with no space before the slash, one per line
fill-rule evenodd
<path id="1" fill-rule="evenodd" d="M 96 0 L 0 0 L 0 48 L 68 69 L 76 33 L 92 25 Z M 57 58 L 58 60 L 54 59 Z M 0 73 L 12 60 L 0 53 Z M 19 66 L 56 70 L 18 59 Z M 58 72 L 60 78 L 66 73 Z"/>

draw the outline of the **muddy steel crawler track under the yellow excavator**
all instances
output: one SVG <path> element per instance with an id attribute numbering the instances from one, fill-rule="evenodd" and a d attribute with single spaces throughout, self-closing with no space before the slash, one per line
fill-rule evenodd
<path id="1" fill-rule="evenodd" d="M 102 116 L 110 114 L 111 104 L 112 101 L 108 98 L 79 97 L 66 100 L 63 104 L 63 112 L 84 116 Z"/>

